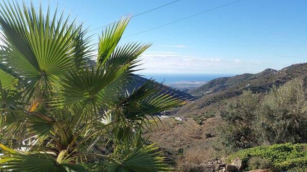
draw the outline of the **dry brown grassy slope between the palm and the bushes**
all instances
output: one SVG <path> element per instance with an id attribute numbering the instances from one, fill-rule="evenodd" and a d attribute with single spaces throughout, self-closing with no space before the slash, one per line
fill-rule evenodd
<path id="1" fill-rule="evenodd" d="M 161 123 L 162 122 L 162 123 Z M 206 133 L 214 134 L 214 125 L 217 118 L 209 118 L 202 125 L 198 125 L 193 119 L 177 121 L 174 118 L 161 119 L 158 125 L 152 125 L 150 141 L 156 142 L 176 153 L 179 148 L 184 149 L 184 154 L 193 161 L 201 163 L 204 160 L 214 158 L 213 148 L 210 143 L 215 138 L 206 138 Z"/>

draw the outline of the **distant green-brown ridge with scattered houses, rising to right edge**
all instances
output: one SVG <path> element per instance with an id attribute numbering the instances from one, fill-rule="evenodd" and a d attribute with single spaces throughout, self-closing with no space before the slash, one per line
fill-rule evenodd
<path id="1" fill-rule="evenodd" d="M 307 63 L 295 64 L 279 71 L 266 69 L 258 74 L 226 77 L 221 79 L 224 81 L 224 84 L 214 84 L 219 81 L 220 78 L 218 78 L 213 80 L 213 82 L 202 85 L 197 90 L 189 92 L 191 94 L 194 93 L 192 95 L 203 94 L 203 96 L 192 103 L 180 107 L 174 111 L 173 115 L 198 116 L 206 113 L 214 113 L 216 108 L 222 105 L 222 100 L 240 95 L 243 90 L 264 93 L 270 90 L 273 85 L 282 85 L 295 78 L 302 79 L 304 82 L 307 80 Z M 222 83 L 222 81 L 220 82 Z"/>

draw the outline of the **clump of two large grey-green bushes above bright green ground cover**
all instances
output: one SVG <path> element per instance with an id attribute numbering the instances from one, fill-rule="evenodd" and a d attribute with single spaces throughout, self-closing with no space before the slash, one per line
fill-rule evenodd
<path id="1" fill-rule="evenodd" d="M 219 143 L 226 153 L 260 145 L 305 143 L 306 103 L 302 80 L 273 87 L 262 101 L 258 94 L 244 91 L 226 101 L 220 113 Z"/>

